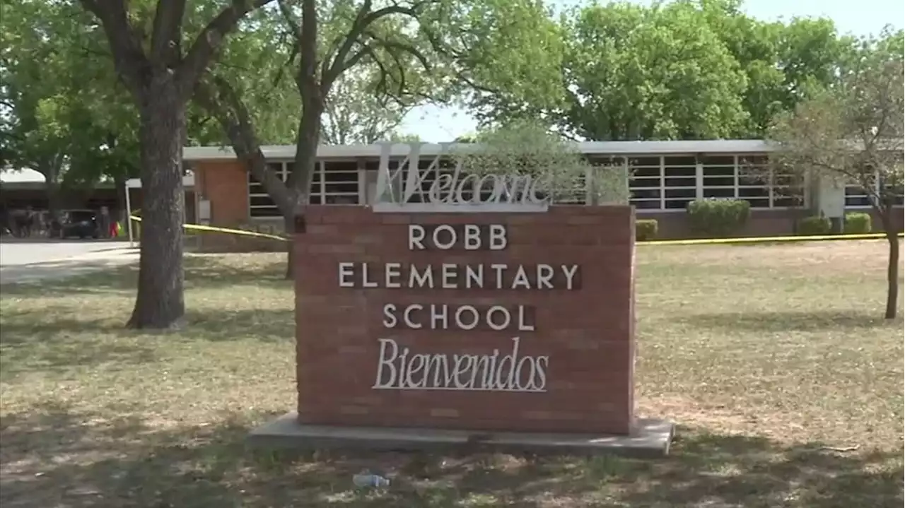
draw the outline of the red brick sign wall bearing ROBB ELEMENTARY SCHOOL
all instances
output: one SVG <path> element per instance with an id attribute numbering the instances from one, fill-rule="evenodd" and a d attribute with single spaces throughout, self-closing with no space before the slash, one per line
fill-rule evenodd
<path id="1" fill-rule="evenodd" d="M 427 230 L 438 224 L 457 228 L 502 224 L 508 245 L 501 250 L 465 250 L 460 245 L 451 250 L 413 251 L 408 248 L 410 223 Z M 628 433 L 633 425 L 635 353 L 633 236 L 629 207 L 554 206 L 546 213 L 522 214 L 402 214 L 375 213 L 354 205 L 310 207 L 307 233 L 295 239 L 300 253 L 295 286 L 300 421 Z M 580 286 L 573 290 L 339 287 L 340 262 L 356 264 L 355 277 L 349 280 L 361 277 L 360 263 L 367 263 L 372 278 L 376 273 L 382 277 L 388 262 L 402 263 L 404 278 L 411 264 L 431 265 L 438 270 L 435 275 L 442 263 L 460 267 L 505 263 L 511 269 L 577 264 Z M 533 268 L 532 272 L 537 273 Z M 566 278 L 557 275 L 553 280 L 562 285 Z M 526 307 L 528 322 L 536 328 L 533 332 L 494 331 L 486 325 L 470 331 L 387 329 L 385 304 L 400 310 L 411 304 L 447 304 L 452 306 L 451 318 L 454 306 L 514 309 L 520 305 Z M 497 323 L 502 321 L 500 314 L 495 318 Z M 381 354 L 378 339 L 395 340 L 400 354 L 405 347 L 410 354 L 448 354 L 452 370 L 454 354 L 487 355 L 497 349 L 498 358 L 503 358 L 511 353 L 513 337 L 519 337 L 519 360 L 526 355 L 548 357 L 546 391 L 372 388 Z M 414 382 L 423 381 L 418 364 L 413 367 Z M 468 365 L 469 361 L 462 362 L 462 369 Z M 433 367 L 436 376 L 440 365 L 433 363 Z M 527 385 L 529 362 L 524 369 Z M 507 372 L 508 368 L 500 379 L 505 380 Z M 442 377 L 430 377 L 437 379 L 443 383 Z M 468 382 L 468 374 L 463 379 Z M 539 374 L 534 381 L 540 384 Z M 476 383 L 480 382 L 479 375 Z"/>

